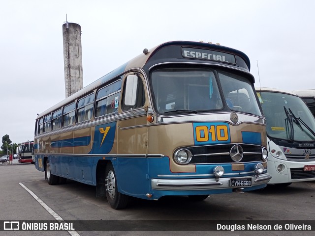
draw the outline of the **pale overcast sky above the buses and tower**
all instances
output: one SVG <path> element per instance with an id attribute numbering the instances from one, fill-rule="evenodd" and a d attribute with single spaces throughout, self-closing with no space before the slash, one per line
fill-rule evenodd
<path id="1" fill-rule="evenodd" d="M 34 122 L 65 98 L 63 31 L 82 30 L 84 87 L 160 43 L 220 43 L 245 52 L 255 86 L 315 88 L 314 0 L 3 0 L 0 138 L 34 139 Z"/>

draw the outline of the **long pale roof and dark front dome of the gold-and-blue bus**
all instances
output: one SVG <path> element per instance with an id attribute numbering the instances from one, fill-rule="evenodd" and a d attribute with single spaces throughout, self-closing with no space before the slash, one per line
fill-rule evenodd
<path id="1" fill-rule="evenodd" d="M 168 52 L 167 50 L 165 50 L 167 55 L 165 55 L 165 52 L 160 53 L 160 54 L 157 53 L 159 51 L 162 51 L 162 49 L 168 48 L 169 46 L 180 46 L 183 48 L 186 46 L 188 48 L 199 49 L 199 50 L 206 49 L 206 50 L 213 50 L 213 51 L 222 52 L 222 53 L 226 53 L 226 54 L 233 53 L 236 56 L 236 59 L 235 59 L 236 62 L 235 62 L 235 64 L 229 64 L 228 66 L 233 67 L 235 69 L 239 69 L 239 70 L 247 72 L 247 73 L 249 73 L 249 71 L 250 71 L 251 63 L 250 63 L 249 57 L 244 52 L 238 51 L 236 49 L 232 49 L 232 48 L 228 48 L 225 46 L 212 44 L 212 43 L 203 43 L 203 42 L 190 42 L 190 41 L 166 42 L 166 43 L 162 43 L 162 44 L 160 44 L 160 45 L 158 45 L 158 46 L 156 46 L 150 50 L 146 50 L 146 49 L 143 50 L 143 52 L 140 55 L 129 60 L 128 62 L 121 65 L 117 69 L 111 71 L 110 73 L 106 74 L 105 76 L 101 77 L 100 79 L 95 80 L 93 83 L 87 85 L 86 87 L 82 88 L 78 92 L 67 97 L 66 99 L 64 99 L 60 103 L 50 107 L 49 109 L 45 110 L 44 112 L 41 112 L 37 116 L 36 119 L 39 119 L 39 118 L 43 117 L 44 115 L 49 114 L 50 112 L 55 111 L 58 108 L 69 104 L 70 102 L 74 101 L 77 98 L 80 98 L 84 95 L 87 95 L 88 92 L 96 89 L 97 87 L 101 86 L 102 84 L 105 84 L 110 79 L 114 79 L 114 78 L 117 78 L 117 77 L 123 75 L 124 72 L 126 72 L 129 69 L 144 68 L 146 66 L 146 64 L 148 64 L 148 66 L 150 66 L 150 63 L 148 63 L 150 61 L 158 63 L 158 62 L 162 62 L 162 59 L 160 61 L 158 60 L 159 58 L 169 58 L 169 60 L 166 62 L 179 62 L 180 63 L 180 62 L 183 62 L 183 60 L 185 59 L 185 61 L 189 60 L 190 62 L 196 63 L 196 62 L 198 62 L 196 59 L 201 59 L 201 58 L 183 58 L 182 55 L 179 56 L 178 54 L 176 55 L 177 56 L 176 58 L 173 54 L 172 54 L 173 57 L 170 57 L 168 54 L 170 52 Z M 182 53 L 182 52 L 180 52 L 180 53 Z M 158 57 L 158 59 L 155 57 L 156 54 L 158 55 L 158 56 L 156 56 L 156 57 Z M 164 57 L 162 57 L 162 56 L 164 56 Z M 241 58 L 243 60 L 242 65 L 237 64 L 238 58 Z M 242 61 L 242 60 L 239 60 L 239 61 Z M 226 66 L 227 63 L 222 62 L 222 61 L 218 61 L 218 60 L 209 60 L 209 64 L 218 64 L 218 65 Z M 252 80 L 254 82 L 253 77 L 252 77 Z"/>

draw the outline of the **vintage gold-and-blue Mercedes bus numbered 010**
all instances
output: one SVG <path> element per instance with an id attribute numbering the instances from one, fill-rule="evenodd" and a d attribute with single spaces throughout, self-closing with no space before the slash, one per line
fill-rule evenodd
<path id="1" fill-rule="evenodd" d="M 114 209 L 265 187 L 266 124 L 250 60 L 216 44 L 163 43 L 42 112 L 35 166 L 48 184 L 96 186 Z"/>

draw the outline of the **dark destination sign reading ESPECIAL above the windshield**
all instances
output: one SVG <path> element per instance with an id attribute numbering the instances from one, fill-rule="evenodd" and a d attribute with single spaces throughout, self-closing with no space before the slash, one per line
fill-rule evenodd
<path id="1" fill-rule="evenodd" d="M 182 48 L 182 55 L 186 58 L 223 61 L 236 64 L 235 55 L 226 52 L 219 52 L 207 49 Z"/>

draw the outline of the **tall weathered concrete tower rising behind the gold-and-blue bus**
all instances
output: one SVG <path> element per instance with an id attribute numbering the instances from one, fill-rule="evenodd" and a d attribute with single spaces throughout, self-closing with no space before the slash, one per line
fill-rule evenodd
<path id="1" fill-rule="evenodd" d="M 83 88 L 81 26 L 63 24 L 63 60 L 65 97 Z"/>

